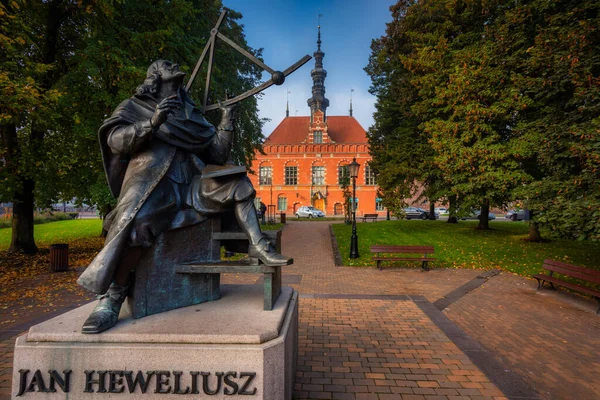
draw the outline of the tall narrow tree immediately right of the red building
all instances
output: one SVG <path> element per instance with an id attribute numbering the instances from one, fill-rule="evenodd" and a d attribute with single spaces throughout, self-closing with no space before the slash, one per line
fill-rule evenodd
<path id="1" fill-rule="evenodd" d="M 421 18 L 411 18 L 412 1 L 400 1 L 391 7 L 393 21 L 386 35 L 373 40 L 369 64 L 370 93 L 377 96 L 375 123 L 369 129 L 372 168 L 388 209 L 401 214 L 405 199 L 420 195 L 434 203 L 445 194 L 444 180 L 434 163 L 434 152 L 426 132 L 420 129 L 421 116 L 413 111 L 420 99 L 410 82 L 410 71 L 402 56 L 415 51 L 411 35 L 420 29 Z"/>

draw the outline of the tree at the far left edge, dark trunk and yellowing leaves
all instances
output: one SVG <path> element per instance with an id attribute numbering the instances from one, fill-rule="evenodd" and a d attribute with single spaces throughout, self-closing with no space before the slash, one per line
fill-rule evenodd
<path id="1" fill-rule="evenodd" d="M 0 13 L 0 132 L 6 167 L 0 190 L 13 202 L 10 250 L 33 253 L 36 181 L 47 160 L 60 162 L 45 146 L 59 136 L 55 127 L 62 115 L 57 109 L 65 93 L 55 84 L 84 40 L 88 14 L 81 4 L 57 0 L 2 2 Z"/>

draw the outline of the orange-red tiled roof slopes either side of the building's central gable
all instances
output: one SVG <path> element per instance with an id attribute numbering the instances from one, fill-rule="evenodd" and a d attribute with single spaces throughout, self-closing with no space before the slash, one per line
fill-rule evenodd
<path id="1" fill-rule="evenodd" d="M 299 144 L 309 134 L 310 117 L 286 117 L 265 140 L 270 144 Z M 327 117 L 327 134 L 335 143 L 367 143 L 367 132 L 354 117 Z"/>

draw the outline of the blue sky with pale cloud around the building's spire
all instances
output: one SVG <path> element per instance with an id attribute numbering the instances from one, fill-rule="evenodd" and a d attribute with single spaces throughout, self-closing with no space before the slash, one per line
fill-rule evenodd
<path id="1" fill-rule="evenodd" d="M 371 40 L 385 33 L 391 21 L 392 0 L 223 0 L 223 4 L 243 15 L 246 40 L 253 48 L 264 49 L 263 59 L 271 68 L 283 71 L 305 54 L 317 50 L 317 16 L 321 17 L 321 50 L 327 70 L 325 96 L 328 115 L 348 115 L 350 90 L 354 117 L 365 129 L 373 124 L 375 97 L 368 92 L 371 81 L 363 68 L 371 54 Z M 286 78 L 281 86 L 271 86 L 259 100 L 260 116 L 270 118 L 263 128 L 268 136 L 285 117 L 286 93 L 290 115 L 309 115 L 306 100 L 311 96 L 314 58 Z M 264 75 L 265 80 L 269 78 Z"/>

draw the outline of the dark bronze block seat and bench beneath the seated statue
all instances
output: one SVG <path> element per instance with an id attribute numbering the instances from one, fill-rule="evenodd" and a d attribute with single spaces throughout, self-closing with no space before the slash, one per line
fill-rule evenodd
<path id="1" fill-rule="evenodd" d="M 256 260 L 222 261 L 220 248 L 246 253 L 248 239 L 232 226 L 221 226 L 227 216 L 160 235 L 140 260 L 132 278 L 127 306 L 133 318 L 169 311 L 220 298 L 220 274 L 264 275 L 264 310 L 272 310 L 281 292 L 281 267 Z M 221 229 L 228 229 L 223 232 Z M 281 231 L 265 231 L 281 251 Z M 193 247 L 189 243 L 194 243 Z"/>

